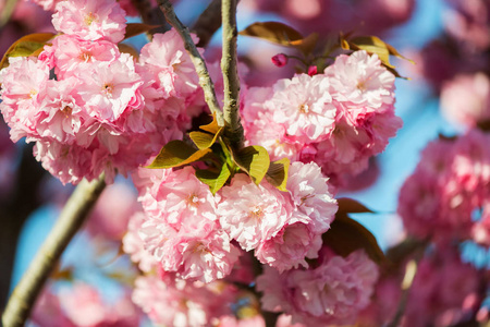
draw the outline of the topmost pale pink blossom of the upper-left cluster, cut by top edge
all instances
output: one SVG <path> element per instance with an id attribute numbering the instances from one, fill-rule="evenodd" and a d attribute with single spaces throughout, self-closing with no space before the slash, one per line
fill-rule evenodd
<path id="1" fill-rule="evenodd" d="M 59 32 L 114 44 L 124 38 L 125 22 L 125 12 L 114 0 L 61 1 L 52 15 L 52 25 Z"/>

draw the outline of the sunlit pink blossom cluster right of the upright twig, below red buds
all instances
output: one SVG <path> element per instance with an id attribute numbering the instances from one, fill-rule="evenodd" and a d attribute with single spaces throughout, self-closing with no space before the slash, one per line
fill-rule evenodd
<path id="1" fill-rule="evenodd" d="M 339 56 L 322 74 L 299 74 L 253 87 L 243 108 L 250 144 L 272 159 L 315 161 L 335 184 L 365 170 L 402 126 L 394 78 L 376 55 Z"/>

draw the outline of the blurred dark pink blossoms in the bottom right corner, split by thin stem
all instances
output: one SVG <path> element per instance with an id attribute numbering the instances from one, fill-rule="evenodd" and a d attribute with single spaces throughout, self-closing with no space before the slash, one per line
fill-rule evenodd
<path id="1" fill-rule="evenodd" d="M 400 326 L 455 326 L 480 308 L 481 277 L 464 263 L 454 244 L 437 246 L 418 263 Z M 384 326 L 393 319 L 402 295 L 401 274 L 384 277 L 376 287 L 375 300 L 364 310 L 362 326 Z M 478 316 L 477 315 L 477 316 Z"/>

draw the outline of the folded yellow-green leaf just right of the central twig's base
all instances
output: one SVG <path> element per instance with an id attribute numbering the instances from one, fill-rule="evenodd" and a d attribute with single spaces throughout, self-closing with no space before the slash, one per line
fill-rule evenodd
<path id="1" fill-rule="evenodd" d="M 252 145 L 240 149 L 236 154 L 233 152 L 231 154 L 233 161 L 258 185 L 270 166 L 267 150 L 259 145 Z"/>

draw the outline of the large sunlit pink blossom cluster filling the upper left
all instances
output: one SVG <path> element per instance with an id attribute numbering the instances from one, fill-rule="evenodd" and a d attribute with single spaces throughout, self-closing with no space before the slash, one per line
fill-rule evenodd
<path id="1" fill-rule="evenodd" d="M 115 1 L 62 1 L 52 23 L 63 34 L 38 59 L 11 58 L 0 73 L 14 142 L 35 142 L 47 170 L 77 183 L 126 174 L 182 137 L 203 100 L 174 31 L 156 35 L 136 60 L 118 47 L 126 25 Z"/>

